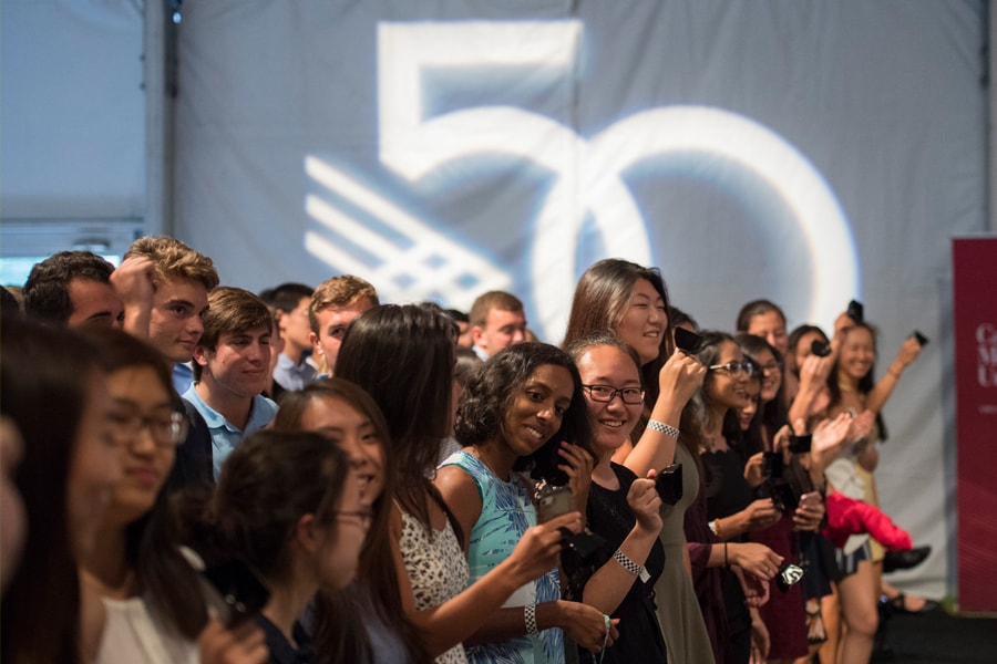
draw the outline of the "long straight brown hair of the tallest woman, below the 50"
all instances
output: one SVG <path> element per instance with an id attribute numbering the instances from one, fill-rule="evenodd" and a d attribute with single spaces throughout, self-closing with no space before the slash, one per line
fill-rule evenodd
<path id="1" fill-rule="evenodd" d="M 600 330 L 615 331 L 626 312 L 634 284 L 640 279 L 647 280 L 654 287 L 665 301 L 665 310 L 668 311 L 670 308 L 668 289 L 657 268 L 645 268 L 628 260 L 607 258 L 585 270 L 575 287 L 572 313 L 562 345 L 567 347 L 572 342 Z M 658 373 L 675 350 L 671 339 L 672 326 L 669 318 L 668 326 L 661 334 L 658 356 L 640 367 L 641 382 L 645 385 L 645 403 L 648 407 L 654 407 L 658 401 Z"/>

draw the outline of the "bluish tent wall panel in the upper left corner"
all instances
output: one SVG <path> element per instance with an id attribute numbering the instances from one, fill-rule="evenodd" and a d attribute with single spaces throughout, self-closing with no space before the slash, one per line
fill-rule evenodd
<path id="1" fill-rule="evenodd" d="M 142 30 L 141 4 L 125 0 L 0 4 L 4 257 L 48 241 L 126 247 L 142 227 Z"/>

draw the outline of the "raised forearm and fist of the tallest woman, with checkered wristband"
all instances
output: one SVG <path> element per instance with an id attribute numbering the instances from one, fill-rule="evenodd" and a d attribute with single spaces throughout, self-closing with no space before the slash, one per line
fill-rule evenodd
<path id="1" fill-rule="evenodd" d="M 682 408 L 699 390 L 703 377 L 706 367 L 698 359 L 679 352 L 671 355 L 658 374 L 660 393 L 650 418 L 677 429 Z M 675 460 L 676 442 L 675 437 L 647 427 L 623 465 L 637 477 L 647 477 L 648 470 L 660 470 Z"/>

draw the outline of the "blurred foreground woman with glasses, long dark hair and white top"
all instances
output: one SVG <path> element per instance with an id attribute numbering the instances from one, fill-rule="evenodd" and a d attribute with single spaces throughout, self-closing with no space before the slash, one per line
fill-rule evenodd
<path id="1" fill-rule="evenodd" d="M 220 625 L 208 625 L 197 579 L 177 549 L 164 485 L 187 419 L 162 355 L 117 330 L 83 334 L 107 375 L 110 433 L 123 468 L 94 547 L 80 559 L 84 589 L 100 598 L 103 625 L 84 633 L 88 654 L 99 664 L 236 655 L 263 662 L 261 632 L 225 634 Z M 222 641 L 230 641 L 230 652 Z"/>

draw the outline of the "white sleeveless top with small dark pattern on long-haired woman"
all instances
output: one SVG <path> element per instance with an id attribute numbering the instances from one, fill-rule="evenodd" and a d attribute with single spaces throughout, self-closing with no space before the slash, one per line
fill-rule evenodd
<path id="1" fill-rule="evenodd" d="M 415 595 L 415 609 L 439 606 L 467 587 L 467 562 L 456 533 L 446 520 L 443 530 L 426 528 L 395 501 L 402 516 L 398 542 L 405 572 Z M 465 664 L 464 646 L 458 644 L 436 657 L 438 664 Z"/>

